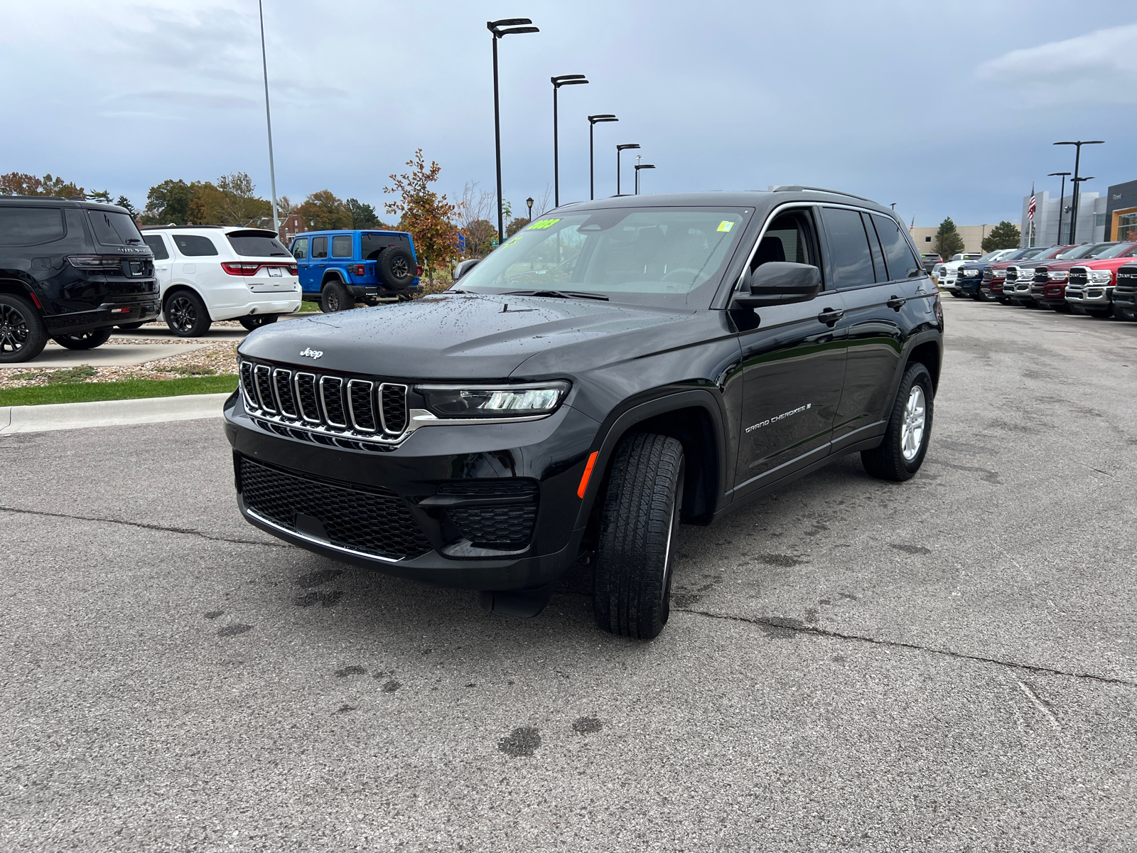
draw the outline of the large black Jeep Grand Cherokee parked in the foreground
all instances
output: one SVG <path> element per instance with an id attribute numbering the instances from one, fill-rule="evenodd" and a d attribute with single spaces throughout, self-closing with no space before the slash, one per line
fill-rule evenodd
<path id="1" fill-rule="evenodd" d="M 225 405 L 241 512 L 534 615 L 667 619 L 680 522 L 861 452 L 923 462 L 943 313 L 905 229 L 800 187 L 561 207 L 446 293 L 259 329 Z"/>

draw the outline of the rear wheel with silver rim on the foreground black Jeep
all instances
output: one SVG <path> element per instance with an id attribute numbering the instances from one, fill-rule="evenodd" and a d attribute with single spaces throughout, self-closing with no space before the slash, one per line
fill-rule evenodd
<path id="1" fill-rule="evenodd" d="M 904 371 L 880 447 L 861 452 L 864 470 L 879 480 L 903 482 L 915 475 L 931 438 L 931 374 L 920 364 Z"/>

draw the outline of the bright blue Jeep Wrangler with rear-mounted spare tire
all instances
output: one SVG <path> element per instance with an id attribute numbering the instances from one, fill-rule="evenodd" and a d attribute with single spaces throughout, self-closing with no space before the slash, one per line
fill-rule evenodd
<path id="1" fill-rule="evenodd" d="M 326 314 L 409 299 L 422 275 L 405 231 L 308 231 L 293 238 L 292 257 L 304 299 Z"/>

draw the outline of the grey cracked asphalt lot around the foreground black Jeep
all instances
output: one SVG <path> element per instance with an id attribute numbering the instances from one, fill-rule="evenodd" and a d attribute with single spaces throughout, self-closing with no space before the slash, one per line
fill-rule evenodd
<path id="1" fill-rule="evenodd" d="M 1132 851 L 1137 323 L 945 303 L 921 473 L 684 528 L 654 643 L 282 545 L 216 421 L 0 438 L 0 847 Z"/>

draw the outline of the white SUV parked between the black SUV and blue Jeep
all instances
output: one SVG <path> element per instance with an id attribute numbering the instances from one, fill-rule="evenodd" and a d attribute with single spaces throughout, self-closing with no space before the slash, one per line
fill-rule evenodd
<path id="1" fill-rule="evenodd" d="M 164 225 L 142 229 L 142 239 L 153 251 L 160 316 L 181 338 L 205 334 L 217 320 L 256 329 L 300 307 L 296 259 L 273 231 Z"/>

